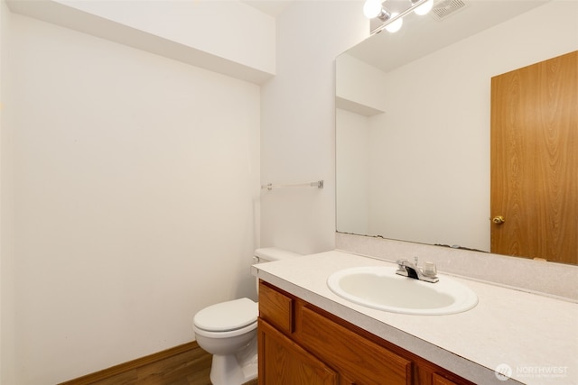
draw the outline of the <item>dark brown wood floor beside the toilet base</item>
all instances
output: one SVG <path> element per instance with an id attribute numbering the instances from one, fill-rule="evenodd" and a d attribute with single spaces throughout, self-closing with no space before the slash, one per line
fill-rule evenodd
<path id="1" fill-rule="evenodd" d="M 154 359 L 159 358 L 159 359 Z M 211 385 L 212 356 L 196 343 L 98 371 L 61 385 Z M 257 380 L 245 385 L 257 385 Z"/>

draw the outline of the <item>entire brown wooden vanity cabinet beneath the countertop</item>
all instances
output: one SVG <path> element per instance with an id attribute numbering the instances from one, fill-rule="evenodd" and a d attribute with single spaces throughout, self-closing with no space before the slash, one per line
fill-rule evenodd
<path id="1" fill-rule="evenodd" d="M 261 281 L 260 385 L 473 385 Z"/>

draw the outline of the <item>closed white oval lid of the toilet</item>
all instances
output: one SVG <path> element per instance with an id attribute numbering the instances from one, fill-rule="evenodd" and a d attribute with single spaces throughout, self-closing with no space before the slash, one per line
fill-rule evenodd
<path id="1" fill-rule="evenodd" d="M 221 302 L 200 310 L 193 322 L 200 329 L 210 332 L 235 330 L 256 322 L 259 307 L 249 298 Z"/>

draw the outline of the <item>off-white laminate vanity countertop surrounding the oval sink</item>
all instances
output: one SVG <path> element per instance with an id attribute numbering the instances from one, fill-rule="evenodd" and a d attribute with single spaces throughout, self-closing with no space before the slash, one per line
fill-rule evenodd
<path id="1" fill-rule="evenodd" d="M 578 384 L 578 304 L 452 276 L 478 295 L 476 307 L 448 316 L 388 313 L 356 305 L 327 287 L 333 272 L 357 266 L 392 263 L 333 251 L 260 263 L 252 271 L 473 382 Z M 508 367 L 510 380 L 499 380 L 496 369 Z"/>

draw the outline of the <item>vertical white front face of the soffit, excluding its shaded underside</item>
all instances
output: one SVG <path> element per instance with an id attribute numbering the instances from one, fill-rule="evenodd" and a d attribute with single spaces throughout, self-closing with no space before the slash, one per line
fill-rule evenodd
<path id="1" fill-rule="evenodd" d="M 275 73 L 275 19 L 240 1 L 52 1 Z"/>

